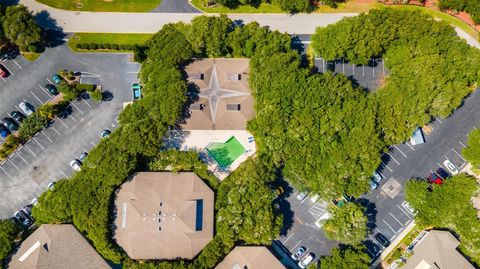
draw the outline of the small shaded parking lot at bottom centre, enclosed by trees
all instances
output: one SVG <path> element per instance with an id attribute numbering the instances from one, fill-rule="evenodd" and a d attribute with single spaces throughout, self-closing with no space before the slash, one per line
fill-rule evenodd
<path id="1" fill-rule="evenodd" d="M 293 264 L 297 262 L 293 261 L 290 255 L 301 246 L 305 247 L 306 251 L 300 259 L 312 253 L 316 262 L 320 256 L 329 255 L 331 249 L 338 243 L 327 239 L 323 230 L 315 225 L 315 222 L 325 213 L 328 204 L 318 200 L 314 195 L 299 200 L 297 190 L 286 183 L 283 188 L 285 193 L 279 197 L 278 202 L 286 220 L 281 235 L 276 239 L 282 248 L 282 253 L 279 255 L 285 260 L 288 259 L 290 266 L 296 266 Z"/>

